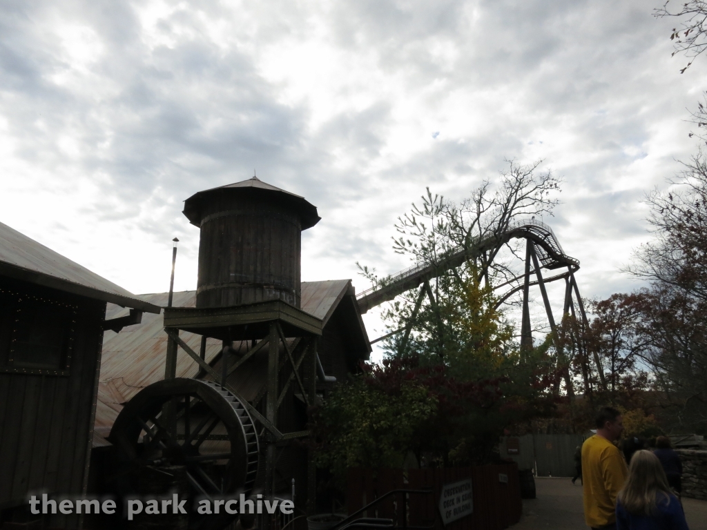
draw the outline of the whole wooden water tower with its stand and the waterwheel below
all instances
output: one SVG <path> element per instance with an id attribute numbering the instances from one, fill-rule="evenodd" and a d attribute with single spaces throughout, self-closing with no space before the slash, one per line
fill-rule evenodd
<path id="1" fill-rule="evenodd" d="M 196 307 L 165 308 L 165 379 L 124 406 L 110 441 L 133 469 L 185 469 L 194 496 L 249 495 L 261 486 L 271 497 L 276 444 L 309 435 L 281 432 L 278 410 L 293 389 L 309 406 L 317 375 L 326 379 L 317 356 L 322 320 L 300 309 L 300 235 L 320 217 L 303 197 L 255 177 L 194 194 L 184 214 L 201 230 Z M 182 330 L 202 336 L 200 353 L 182 341 Z M 206 363 L 206 338 L 223 341 L 218 363 Z M 179 347 L 199 364 L 201 378 L 175 377 Z M 263 350 L 267 392 L 258 409 L 228 377 Z M 307 483 L 312 510 L 311 458 Z M 222 528 L 230 520 L 189 519 L 189 528 L 199 529 Z"/>

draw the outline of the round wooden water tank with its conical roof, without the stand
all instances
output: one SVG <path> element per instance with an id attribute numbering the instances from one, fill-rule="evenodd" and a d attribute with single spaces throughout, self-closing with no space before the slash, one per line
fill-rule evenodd
<path id="1" fill-rule="evenodd" d="M 256 177 L 185 201 L 201 229 L 197 307 L 283 300 L 300 307 L 300 234 L 317 208 Z"/>

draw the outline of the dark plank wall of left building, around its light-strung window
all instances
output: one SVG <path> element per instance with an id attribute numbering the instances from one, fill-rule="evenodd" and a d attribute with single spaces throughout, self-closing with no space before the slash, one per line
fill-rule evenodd
<path id="1" fill-rule="evenodd" d="M 0 508 L 23 505 L 37 490 L 81 494 L 88 476 L 106 304 L 8 278 L 0 278 L 0 291 L 0 358 L 7 358 L 12 336 L 14 308 L 8 299 L 19 295 L 75 307 L 66 375 L 8 372 L 0 366 Z"/>

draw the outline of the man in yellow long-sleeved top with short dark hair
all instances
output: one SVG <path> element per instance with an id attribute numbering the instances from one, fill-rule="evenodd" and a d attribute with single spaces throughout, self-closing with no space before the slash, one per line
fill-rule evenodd
<path id="1" fill-rule="evenodd" d="M 619 490 L 629 476 L 624 455 L 612 444 L 624 430 L 624 420 L 615 408 L 601 408 L 597 434 L 582 445 L 584 519 L 592 529 L 616 529 Z"/>

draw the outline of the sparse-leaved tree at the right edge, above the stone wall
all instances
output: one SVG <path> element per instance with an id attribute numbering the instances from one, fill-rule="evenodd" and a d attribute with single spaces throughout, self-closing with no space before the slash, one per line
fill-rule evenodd
<path id="1" fill-rule="evenodd" d="M 707 404 L 707 158 L 698 152 L 646 199 L 653 241 L 636 252 L 631 273 L 650 282 L 640 293 L 641 353 L 655 382 L 678 406 L 684 428 L 705 428 Z"/>

